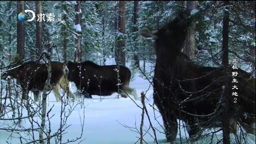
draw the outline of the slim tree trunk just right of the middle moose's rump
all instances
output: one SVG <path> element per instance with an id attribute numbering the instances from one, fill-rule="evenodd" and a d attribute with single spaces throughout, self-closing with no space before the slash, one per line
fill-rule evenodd
<path id="1" fill-rule="evenodd" d="M 137 19 L 139 18 L 138 16 L 138 6 L 139 6 L 139 1 L 134 1 L 134 9 L 133 9 L 133 24 L 134 24 L 134 28 L 132 30 L 132 32 L 137 32 L 138 31 L 138 26 L 137 26 Z M 137 44 L 136 44 L 136 34 L 134 34 L 134 49 L 137 49 Z M 134 65 L 138 68 L 140 66 L 140 60 L 138 57 L 138 54 L 135 53 L 134 54 Z"/>

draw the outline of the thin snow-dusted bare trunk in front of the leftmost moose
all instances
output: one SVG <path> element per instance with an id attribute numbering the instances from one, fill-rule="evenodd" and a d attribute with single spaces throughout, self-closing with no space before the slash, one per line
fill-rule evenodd
<path id="1" fill-rule="evenodd" d="M 41 128 L 39 133 L 39 139 L 40 144 L 44 144 L 44 126 L 45 126 L 45 116 L 46 116 L 46 97 L 48 95 L 47 91 L 51 88 L 51 76 L 52 76 L 52 65 L 51 65 L 51 59 L 52 59 L 52 50 L 51 45 L 47 44 L 47 53 L 45 54 L 45 57 L 48 60 L 48 78 L 44 84 L 44 91 L 42 96 L 42 121 L 41 121 Z"/>

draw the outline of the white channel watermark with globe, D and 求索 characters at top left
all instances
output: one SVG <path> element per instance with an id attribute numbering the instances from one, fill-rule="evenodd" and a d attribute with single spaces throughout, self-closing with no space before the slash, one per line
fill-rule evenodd
<path id="1" fill-rule="evenodd" d="M 48 13 L 48 14 L 40 13 L 40 14 L 36 15 L 33 10 L 24 10 L 24 12 L 21 12 L 18 14 L 18 20 L 20 22 L 24 22 L 24 21 L 31 22 L 36 18 L 36 16 L 37 16 L 37 19 L 36 19 L 37 22 L 42 22 L 42 21 L 54 22 L 55 21 L 55 14 L 53 14 L 53 13 Z M 32 14 L 32 18 L 30 18 L 28 13 Z M 58 14 L 58 22 L 61 22 L 61 14 Z"/>

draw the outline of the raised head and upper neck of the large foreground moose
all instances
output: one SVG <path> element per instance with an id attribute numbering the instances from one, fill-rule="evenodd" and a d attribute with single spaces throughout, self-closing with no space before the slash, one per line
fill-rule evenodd
<path id="1" fill-rule="evenodd" d="M 147 38 L 154 38 L 158 58 L 171 57 L 170 54 L 175 56 L 181 51 L 187 30 L 192 26 L 194 19 L 194 15 L 191 16 L 190 11 L 182 11 L 162 28 L 158 30 L 142 28 L 139 34 Z"/>

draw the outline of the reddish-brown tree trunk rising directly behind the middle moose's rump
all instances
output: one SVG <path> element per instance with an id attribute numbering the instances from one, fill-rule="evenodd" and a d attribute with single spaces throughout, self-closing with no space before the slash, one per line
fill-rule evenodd
<path id="1" fill-rule="evenodd" d="M 119 32 L 125 34 L 125 1 L 119 1 L 119 20 L 118 20 Z M 125 52 L 123 48 L 125 47 L 124 37 L 120 36 L 118 38 L 116 48 L 115 60 L 116 63 L 125 66 Z"/>

